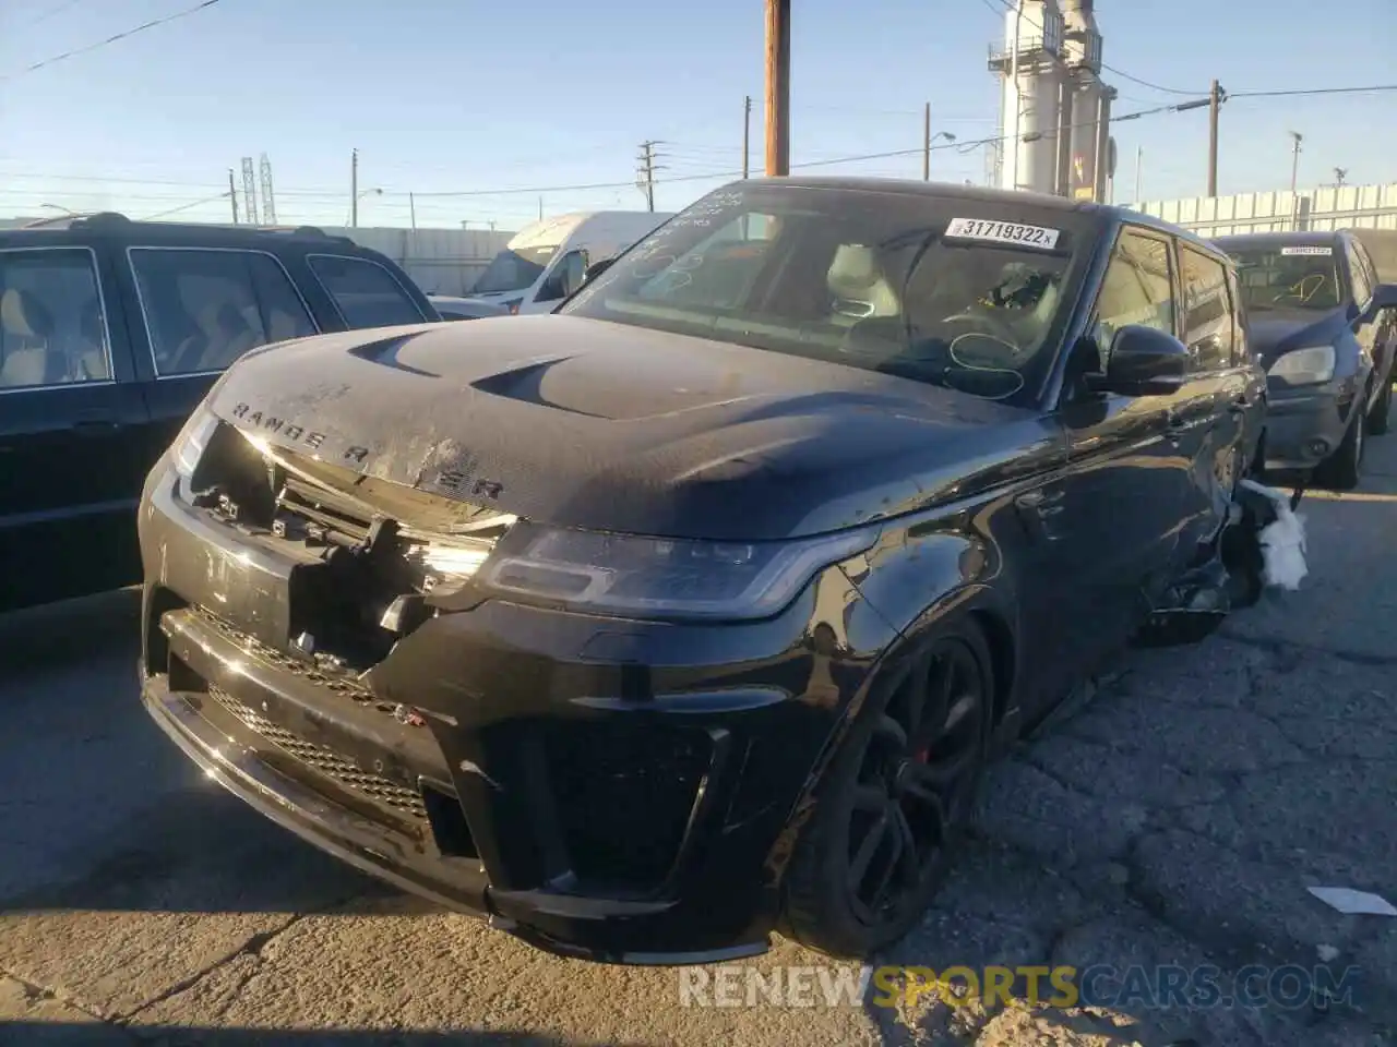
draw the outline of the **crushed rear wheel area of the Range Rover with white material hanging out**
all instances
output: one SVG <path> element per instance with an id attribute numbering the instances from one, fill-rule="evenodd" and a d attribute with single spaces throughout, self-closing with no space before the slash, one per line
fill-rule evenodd
<path id="1" fill-rule="evenodd" d="M 1299 588 L 1308 570 L 1303 518 L 1295 515 L 1302 497 L 1302 487 L 1287 496 L 1255 480 L 1238 483 L 1218 533 L 1199 563 L 1153 602 L 1134 645 L 1201 642 L 1268 588 Z"/>

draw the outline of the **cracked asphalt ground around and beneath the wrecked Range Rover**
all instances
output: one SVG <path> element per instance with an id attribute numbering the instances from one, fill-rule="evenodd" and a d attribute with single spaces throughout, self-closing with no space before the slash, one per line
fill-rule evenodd
<path id="1" fill-rule="evenodd" d="M 1397 437 L 1312 493 L 1310 575 L 1133 651 L 989 773 L 918 931 L 950 965 L 1358 967 L 1348 1005 L 682 1007 L 679 974 L 536 952 L 379 886 L 205 782 L 140 711 L 131 593 L 0 621 L 0 1044 L 1397 1043 Z M 84 656 L 68 652 L 74 638 Z M 778 940 L 752 966 L 823 960 Z M 1102 983 L 1108 988 L 1109 979 Z"/>

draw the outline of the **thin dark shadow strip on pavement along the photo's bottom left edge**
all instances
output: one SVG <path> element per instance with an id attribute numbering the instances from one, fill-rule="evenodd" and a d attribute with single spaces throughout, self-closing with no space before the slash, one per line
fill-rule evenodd
<path id="1" fill-rule="evenodd" d="M 133 1034 L 134 1033 L 134 1034 Z M 369 1029 L 218 1029 L 196 1026 L 123 1027 L 78 1022 L 0 1022 L 0 1043 L 24 1047 L 562 1047 L 567 1040 L 529 1032 L 443 1029 L 432 1032 Z"/>

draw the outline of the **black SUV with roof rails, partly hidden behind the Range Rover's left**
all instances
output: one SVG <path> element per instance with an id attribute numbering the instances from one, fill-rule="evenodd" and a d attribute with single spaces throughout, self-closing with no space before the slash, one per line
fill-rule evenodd
<path id="1" fill-rule="evenodd" d="M 0 232 L 0 610 L 140 578 L 145 475 L 249 349 L 439 318 L 383 254 L 310 228 Z"/>

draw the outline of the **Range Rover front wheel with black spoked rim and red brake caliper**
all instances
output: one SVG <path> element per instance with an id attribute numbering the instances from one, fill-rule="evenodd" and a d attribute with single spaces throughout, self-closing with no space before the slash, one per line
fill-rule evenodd
<path id="1" fill-rule="evenodd" d="M 970 618 L 936 625 L 886 671 L 816 789 L 782 881 L 781 930 L 831 956 L 865 958 L 918 923 L 961 842 L 989 747 L 993 667 Z M 939 796 L 928 783 L 951 766 L 954 785 Z M 879 881 L 882 902 L 866 889 Z"/>

